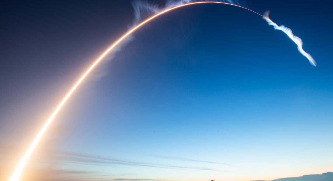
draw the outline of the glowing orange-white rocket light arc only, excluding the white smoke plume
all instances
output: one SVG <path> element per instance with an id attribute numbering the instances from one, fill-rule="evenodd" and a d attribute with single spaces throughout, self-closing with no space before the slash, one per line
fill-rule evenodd
<path id="1" fill-rule="evenodd" d="M 37 143 L 39 142 L 39 140 L 41 139 L 41 137 L 43 136 L 44 132 L 46 131 L 47 127 L 50 125 L 51 121 L 53 120 L 54 116 L 56 116 L 56 114 L 58 113 L 59 109 L 63 106 L 63 104 L 66 102 L 66 100 L 68 99 L 68 97 L 73 93 L 73 91 L 76 89 L 76 87 L 79 86 L 79 84 L 83 81 L 83 79 L 90 73 L 90 71 L 100 62 L 101 59 L 103 59 L 103 57 L 105 57 L 105 55 L 107 53 L 109 53 L 116 45 L 118 45 L 122 40 L 124 40 L 128 35 L 130 35 L 132 32 L 134 32 L 136 29 L 138 29 L 139 27 L 141 27 L 142 25 L 146 24 L 147 22 L 149 22 L 150 20 L 168 12 L 171 11 L 173 9 L 176 8 L 180 8 L 183 6 L 187 6 L 187 5 L 191 5 L 191 4 L 200 4 L 200 3 L 220 3 L 220 4 L 228 4 L 228 5 L 233 5 L 233 6 L 237 6 L 240 8 L 244 8 L 242 6 L 238 6 L 238 5 L 234 5 L 234 4 L 230 4 L 230 3 L 223 3 L 223 2 L 214 2 L 214 1 L 203 1 L 203 2 L 193 2 L 193 3 L 188 3 L 188 4 L 183 4 L 183 5 L 179 5 L 179 6 L 175 6 L 173 8 L 167 9 L 161 13 L 158 13 L 150 18 L 148 18 L 147 20 L 145 20 L 144 22 L 140 23 L 138 26 L 134 27 L 132 30 L 130 30 L 129 32 L 127 32 L 123 37 L 121 37 L 120 39 L 118 39 L 116 41 L 116 43 L 114 43 L 106 52 L 104 52 L 104 54 L 95 61 L 95 63 L 86 71 L 86 73 L 81 77 L 81 79 L 74 85 L 74 87 L 68 92 L 68 94 L 65 96 L 65 98 L 61 101 L 61 103 L 58 105 L 57 109 L 53 112 L 53 114 L 51 115 L 51 117 L 49 118 L 49 120 L 47 120 L 47 122 L 45 123 L 45 125 L 43 126 L 43 128 L 40 130 L 40 132 L 38 133 L 37 137 L 35 138 L 35 140 L 32 142 L 32 144 L 30 145 L 28 151 L 26 152 L 26 154 L 23 156 L 22 160 L 20 161 L 19 165 L 16 167 L 16 170 L 14 171 L 12 177 L 10 178 L 9 181 L 19 181 L 20 180 L 20 176 L 21 173 L 23 171 L 24 166 L 26 165 L 31 153 L 33 152 L 33 150 L 35 149 Z M 247 9 L 247 8 L 244 8 Z M 247 9 L 249 11 L 252 11 L 250 9 Z M 252 11 L 254 12 L 254 11 Z M 262 16 L 261 14 L 254 12 L 260 16 Z"/>

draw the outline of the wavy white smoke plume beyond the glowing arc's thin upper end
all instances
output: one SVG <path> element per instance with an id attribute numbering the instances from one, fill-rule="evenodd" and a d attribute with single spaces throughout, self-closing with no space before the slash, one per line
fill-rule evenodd
<path id="1" fill-rule="evenodd" d="M 289 28 L 287 28 L 287 27 L 285 27 L 285 26 L 283 26 L 283 25 L 281 25 L 281 26 L 277 26 L 277 24 L 274 23 L 274 22 L 273 22 L 268 16 L 269 16 L 269 11 L 266 11 L 265 14 L 263 15 L 263 19 L 267 21 L 268 25 L 272 25 L 272 26 L 274 27 L 275 30 L 281 30 L 281 31 L 283 31 L 285 34 L 287 34 L 288 37 L 289 37 L 292 41 L 294 41 L 294 42 L 296 43 L 297 48 L 298 48 L 298 51 L 299 51 L 302 55 L 304 55 L 304 56 L 309 60 L 309 62 L 311 63 L 311 65 L 313 65 L 313 66 L 316 67 L 316 66 L 317 66 L 316 61 L 314 61 L 314 59 L 311 57 L 310 54 L 306 53 L 306 52 L 303 50 L 303 48 L 302 48 L 302 47 L 303 47 L 302 39 L 299 38 L 298 36 L 295 36 L 295 35 L 292 33 L 291 29 L 289 29 Z"/>

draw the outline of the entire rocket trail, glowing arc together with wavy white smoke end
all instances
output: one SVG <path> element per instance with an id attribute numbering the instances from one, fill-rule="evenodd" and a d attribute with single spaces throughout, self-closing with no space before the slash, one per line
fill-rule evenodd
<path id="1" fill-rule="evenodd" d="M 41 137 L 43 136 L 44 132 L 46 131 L 47 127 L 50 125 L 51 121 L 53 120 L 53 118 L 56 116 L 56 114 L 58 113 L 59 109 L 63 106 L 63 104 L 66 102 L 66 100 L 68 99 L 68 97 L 73 93 L 73 91 L 79 86 L 79 84 L 83 81 L 83 79 L 90 73 L 90 71 L 105 57 L 106 54 L 108 54 L 115 46 L 117 46 L 122 40 L 124 40 L 128 35 L 130 35 L 132 32 L 134 32 L 136 29 L 138 29 L 139 27 L 141 27 L 142 25 L 146 24 L 147 22 L 149 22 L 150 20 L 168 12 L 171 11 L 173 9 L 176 8 L 180 8 L 183 6 L 187 6 L 187 5 L 192 5 L 192 4 L 201 4 L 201 3 L 219 3 L 219 4 L 228 4 L 228 5 L 233 5 L 233 6 L 237 6 L 240 8 L 244 8 L 242 6 L 238 6 L 235 4 L 230 4 L 230 3 L 225 3 L 225 2 L 215 2 L 215 1 L 202 1 L 202 2 L 192 2 L 192 3 L 187 3 L 187 4 L 182 4 L 179 6 L 175 6 L 172 8 L 169 8 L 163 12 L 160 12 L 150 18 L 148 18 L 147 20 L 143 21 L 142 23 L 140 23 L 139 25 L 137 25 L 136 27 L 134 27 L 133 29 L 131 29 L 129 32 L 127 32 L 124 36 L 122 36 L 120 39 L 118 39 L 106 52 L 103 53 L 103 55 L 97 59 L 95 61 L 95 63 L 86 71 L 86 73 L 81 77 L 81 79 L 74 85 L 74 87 L 68 92 L 68 94 L 65 96 L 65 98 L 61 101 L 61 103 L 58 105 L 58 107 L 56 108 L 56 110 L 53 112 L 53 114 L 51 115 L 51 117 L 47 120 L 47 122 L 45 123 L 45 125 L 43 126 L 43 128 L 40 130 L 40 132 L 38 133 L 37 137 L 35 138 L 35 140 L 32 142 L 32 144 L 30 145 L 29 149 L 27 150 L 26 154 L 23 156 L 22 160 L 20 161 L 19 165 L 17 166 L 16 170 L 14 171 L 12 177 L 10 178 L 10 181 L 19 181 L 20 180 L 20 176 L 21 173 L 23 171 L 24 166 L 26 165 L 31 153 L 33 152 L 33 150 L 35 149 L 37 143 L 39 142 L 39 140 L 41 139 Z M 244 8 L 247 9 L 247 8 Z M 247 9 L 249 11 L 252 11 L 250 9 Z M 262 16 L 261 14 L 252 11 L 260 16 Z M 262 16 L 268 23 L 269 25 L 273 25 L 275 29 L 278 30 L 282 30 L 284 31 L 291 40 L 293 40 L 297 46 L 299 51 L 303 54 L 305 57 L 307 57 L 309 59 L 309 57 L 311 57 L 309 54 L 307 54 L 303 49 L 302 49 L 302 40 L 299 37 L 294 36 L 291 33 L 291 30 L 284 27 L 284 26 L 277 26 L 274 22 L 272 22 L 269 18 L 268 18 L 268 14 L 265 14 L 264 16 Z M 284 27 L 284 28 L 283 28 Z M 286 31 L 285 31 L 286 30 Z M 289 32 L 289 33 L 288 33 Z M 296 38 L 295 38 L 296 37 Z M 312 57 L 311 57 L 312 59 Z M 309 59 L 310 60 L 310 59 Z M 313 60 L 313 59 L 312 59 Z M 313 61 L 311 61 L 311 64 L 316 66 L 316 63 Z"/>

